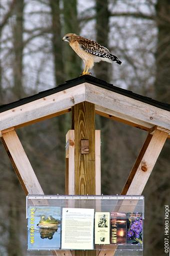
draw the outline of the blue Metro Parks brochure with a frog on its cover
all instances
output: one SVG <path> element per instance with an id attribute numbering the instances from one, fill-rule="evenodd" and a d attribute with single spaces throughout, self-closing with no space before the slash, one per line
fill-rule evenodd
<path id="1" fill-rule="evenodd" d="M 28 207 L 28 250 L 60 248 L 60 207 Z"/>

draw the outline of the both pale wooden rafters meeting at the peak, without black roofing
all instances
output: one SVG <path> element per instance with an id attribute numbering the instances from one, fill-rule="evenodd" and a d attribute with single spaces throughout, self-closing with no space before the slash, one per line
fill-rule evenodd
<path id="1" fill-rule="evenodd" d="M 157 125 L 170 130 L 168 110 L 84 82 L 1 112 L 0 131 L 57 116 L 83 101 L 95 104 L 96 113 L 139 129 L 148 131 Z"/>

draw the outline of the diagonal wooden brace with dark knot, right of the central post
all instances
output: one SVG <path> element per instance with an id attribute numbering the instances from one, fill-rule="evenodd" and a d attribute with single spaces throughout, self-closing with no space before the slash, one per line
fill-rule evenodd
<path id="1" fill-rule="evenodd" d="M 121 192 L 122 195 L 141 195 L 168 134 L 155 130 L 148 135 Z"/>

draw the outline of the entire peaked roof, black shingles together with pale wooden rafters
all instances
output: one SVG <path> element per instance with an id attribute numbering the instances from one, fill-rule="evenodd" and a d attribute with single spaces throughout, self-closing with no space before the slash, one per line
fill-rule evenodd
<path id="1" fill-rule="evenodd" d="M 95 112 L 149 131 L 153 126 L 170 135 L 170 104 L 116 87 L 84 75 L 55 88 L 0 106 L 0 131 L 18 128 L 71 110 L 83 101 L 95 105 Z"/>

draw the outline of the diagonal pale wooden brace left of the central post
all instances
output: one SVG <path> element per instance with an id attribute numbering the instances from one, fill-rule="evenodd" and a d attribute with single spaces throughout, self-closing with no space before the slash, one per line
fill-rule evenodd
<path id="1" fill-rule="evenodd" d="M 42 188 L 14 130 L 2 132 L 1 141 L 25 195 L 43 195 Z"/>

